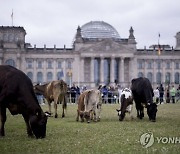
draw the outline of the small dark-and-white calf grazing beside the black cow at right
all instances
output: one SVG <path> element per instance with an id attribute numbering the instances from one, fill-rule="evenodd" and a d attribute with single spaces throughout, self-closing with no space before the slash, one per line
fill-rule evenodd
<path id="1" fill-rule="evenodd" d="M 132 108 L 133 108 L 133 97 L 130 89 L 125 88 L 122 90 L 121 96 L 121 107 L 116 109 L 119 116 L 119 121 L 122 121 L 125 117 L 125 113 L 128 112 L 132 118 Z"/>

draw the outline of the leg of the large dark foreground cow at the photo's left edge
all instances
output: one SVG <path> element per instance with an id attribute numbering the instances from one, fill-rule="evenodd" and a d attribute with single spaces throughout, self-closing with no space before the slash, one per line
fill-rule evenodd
<path id="1" fill-rule="evenodd" d="M 1 136 L 5 136 L 4 125 L 5 125 L 6 118 L 7 118 L 5 107 L 0 107 L 0 118 L 1 118 L 0 137 L 1 137 Z"/>

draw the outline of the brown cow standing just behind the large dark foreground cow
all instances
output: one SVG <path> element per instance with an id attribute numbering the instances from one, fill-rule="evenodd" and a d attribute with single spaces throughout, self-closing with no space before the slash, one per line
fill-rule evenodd
<path id="1" fill-rule="evenodd" d="M 51 114 L 51 103 L 54 101 L 55 118 L 58 117 L 57 114 L 57 104 L 62 103 L 62 117 L 65 117 L 64 110 L 67 107 L 67 84 L 63 80 L 52 81 L 44 85 L 35 85 L 34 92 L 36 94 L 43 95 L 49 106 L 49 113 Z"/>

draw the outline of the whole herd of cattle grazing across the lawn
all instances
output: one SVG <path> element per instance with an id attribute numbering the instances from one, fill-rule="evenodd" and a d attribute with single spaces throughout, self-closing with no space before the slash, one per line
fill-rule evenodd
<path id="1" fill-rule="evenodd" d="M 49 112 L 41 109 L 36 94 L 44 95 L 48 102 Z M 63 81 L 52 81 L 44 85 L 33 86 L 31 80 L 20 70 L 11 66 L 0 66 L 0 137 L 5 136 L 6 108 L 12 115 L 22 114 L 27 127 L 28 136 L 36 138 L 46 136 L 47 116 L 51 114 L 51 103 L 54 102 L 55 118 L 57 104 L 62 104 L 62 117 L 67 107 L 67 84 Z M 125 88 L 121 93 L 121 105 L 117 109 L 119 120 L 122 121 L 126 112 L 132 116 L 132 105 L 135 102 L 137 117 L 144 117 L 147 108 L 149 120 L 156 121 L 157 105 L 153 103 L 153 89 L 147 78 L 132 80 L 131 89 Z M 99 90 L 84 91 L 78 99 L 77 118 L 89 123 L 99 121 L 102 98 Z"/>

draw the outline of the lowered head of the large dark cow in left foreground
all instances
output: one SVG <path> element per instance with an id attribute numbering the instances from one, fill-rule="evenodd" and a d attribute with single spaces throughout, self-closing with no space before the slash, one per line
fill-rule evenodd
<path id="1" fill-rule="evenodd" d="M 47 116 L 44 113 L 38 113 L 29 118 L 29 123 L 33 134 L 36 138 L 44 138 L 46 136 Z"/>

